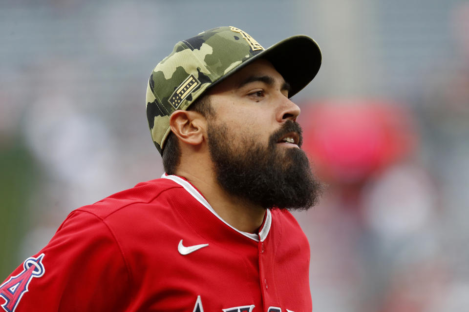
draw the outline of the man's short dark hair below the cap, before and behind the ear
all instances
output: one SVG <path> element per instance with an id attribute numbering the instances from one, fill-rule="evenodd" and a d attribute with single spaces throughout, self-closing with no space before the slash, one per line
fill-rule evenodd
<path id="1" fill-rule="evenodd" d="M 201 114 L 204 117 L 210 117 L 215 114 L 213 107 L 210 103 L 210 98 L 207 95 L 197 98 L 188 111 L 193 111 Z M 165 145 L 163 147 L 163 168 L 168 175 L 174 175 L 181 161 L 181 149 L 179 148 L 179 140 L 170 132 Z"/>

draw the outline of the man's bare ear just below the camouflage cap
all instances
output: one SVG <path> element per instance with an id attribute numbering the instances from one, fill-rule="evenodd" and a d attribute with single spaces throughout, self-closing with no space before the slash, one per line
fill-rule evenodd
<path id="1" fill-rule="evenodd" d="M 207 120 L 194 111 L 174 111 L 170 116 L 171 131 L 182 142 L 201 144 L 207 129 Z"/>

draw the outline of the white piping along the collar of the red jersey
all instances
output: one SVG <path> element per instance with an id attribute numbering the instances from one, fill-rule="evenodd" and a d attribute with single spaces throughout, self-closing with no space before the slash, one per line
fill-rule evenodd
<path id="1" fill-rule="evenodd" d="M 220 219 L 223 223 L 225 223 L 226 225 L 228 225 L 230 228 L 232 228 L 233 230 L 235 230 L 236 232 L 238 232 L 239 234 L 242 234 L 246 237 L 249 237 L 253 240 L 255 240 L 256 242 L 259 241 L 259 238 L 260 238 L 260 241 L 263 242 L 266 238 L 267 238 L 267 235 L 269 234 L 269 231 L 270 231 L 270 226 L 272 224 L 272 215 L 270 213 L 270 210 L 267 209 L 266 211 L 266 216 L 265 216 L 265 222 L 264 222 L 264 227 L 262 228 L 262 230 L 260 230 L 259 234 L 254 234 L 254 233 L 247 233 L 247 232 L 243 232 L 243 231 L 239 231 L 237 229 L 235 229 L 233 226 L 231 226 L 230 224 L 228 224 L 225 220 L 223 220 L 221 218 L 221 216 L 219 216 L 212 208 L 212 206 L 210 206 L 209 202 L 204 198 L 204 196 L 202 196 L 199 191 L 197 191 L 191 183 L 187 182 L 186 180 L 180 178 L 179 176 L 167 176 L 166 174 L 163 174 L 161 176 L 162 178 L 165 178 L 165 179 L 170 179 L 174 182 L 176 182 L 177 184 L 179 184 L 180 186 L 182 186 L 189 194 L 192 195 L 192 197 L 194 197 L 199 203 L 201 203 L 205 208 L 207 208 L 213 215 L 215 215 L 218 219 Z"/>

